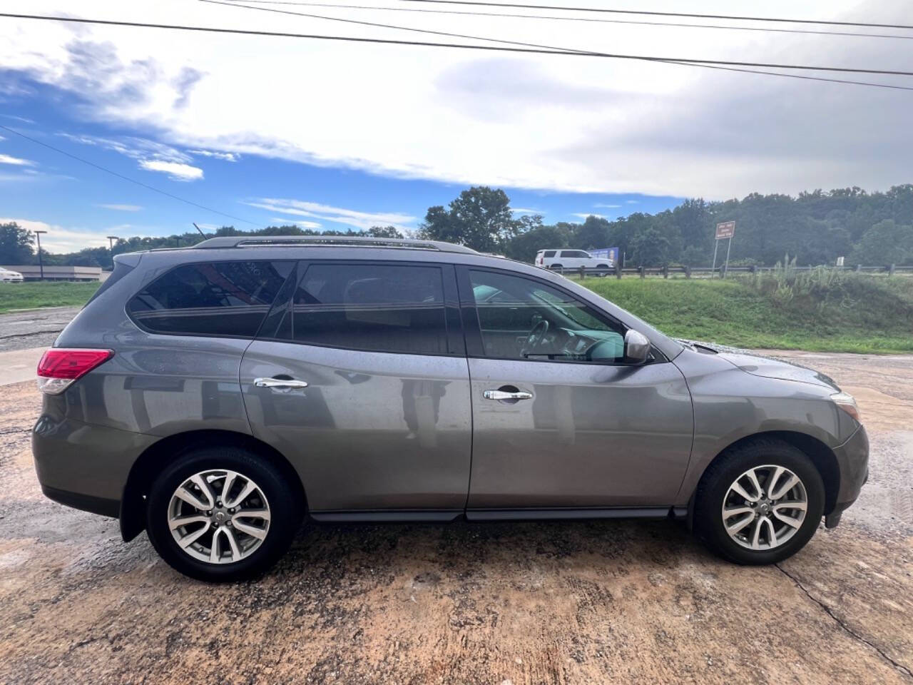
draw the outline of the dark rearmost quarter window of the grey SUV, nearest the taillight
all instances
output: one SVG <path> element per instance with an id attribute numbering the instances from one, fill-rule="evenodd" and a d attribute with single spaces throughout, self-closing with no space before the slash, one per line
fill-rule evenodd
<path id="1" fill-rule="evenodd" d="M 185 264 L 152 281 L 127 305 L 156 333 L 253 338 L 294 262 Z"/>

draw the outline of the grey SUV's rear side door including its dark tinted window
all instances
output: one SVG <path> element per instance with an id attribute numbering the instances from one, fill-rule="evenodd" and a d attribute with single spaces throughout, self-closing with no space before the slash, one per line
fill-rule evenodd
<path id="1" fill-rule="evenodd" d="M 452 518 L 467 496 L 469 377 L 450 265 L 300 262 L 241 364 L 257 437 L 312 514 Z"/>

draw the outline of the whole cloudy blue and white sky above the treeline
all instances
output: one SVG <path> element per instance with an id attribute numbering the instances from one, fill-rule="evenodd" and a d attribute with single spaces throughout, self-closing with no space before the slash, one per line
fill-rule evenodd
<path id="1" fill-rule="evenodd" d="M 299 2 L 311 4 L 7 0 L 2 11 L 497 45 L 263 11 L 271 8 L 616 54 L 888 69 L 913 63 L 913 31 L 884 28 L 505 10 L 566 17 L 535 20 L 477 16 L 496 11 L 490 7 L 404 0 L 322 0 L 359 9 Z M 611 6 L 908 24 L 905 5 L 654 0 L 647 7 L 618 0 Z M 477 14 L 404 11 L 432 8 Z M 913 85 L 908 77 L 824 76 Z M 57 252 L 107 245 L 110 235 L 183 233 L 191 222 L 206 230 L 297 223 L 411 232 L 428 206 L 446 205 L 473 184 L 503 188 L 517 216 L 537 213 L 546 223 L 656 213 L 695 196 L 797 195 L 852 185 L 887 190 L 913 180 L 911 103 L 913 92 L 905 90 L 628 59 L 0 17 L 0 126 L 14 131 L 0 129 L 0 222 L 47 230 L 42 247 Z"/>

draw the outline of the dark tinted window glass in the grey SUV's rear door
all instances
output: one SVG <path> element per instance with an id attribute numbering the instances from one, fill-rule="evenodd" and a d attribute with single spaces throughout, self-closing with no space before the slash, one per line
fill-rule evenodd
<path id="1" fill-rule="evenodd" d="M 446 354 L 441 269 L 312 264 L 278 336 L 353 350 Z"/>

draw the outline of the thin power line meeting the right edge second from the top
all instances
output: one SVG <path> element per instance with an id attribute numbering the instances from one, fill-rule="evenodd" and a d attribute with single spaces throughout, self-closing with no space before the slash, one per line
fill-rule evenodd
<path id="1" fill-rule="evenodd" d="M 811 28 L 771 28 L 770 26 L 720 26 L 719 24 L 682 24 L 666 21 L 638 21 L 636 19 L 604 19 L 593 16 L 519 15 L 508 12 L 472 12 L 458 9 L 419 9 L 416 7 L 380 7 L 377 5 L 337 5 L 334 3 L 309 3 L 296 0 L 243 0 L 248 5 L 297 5 L 300 7 L 328 7 L 333 9 L 368 9 L 381 12 L 417 12 L 431 15 L 498 16 L 518 19 L 548 19 L 552 21 L 576 21 L 596 24 L 624 24 L 636 26 L 677 26 L 683 28 L 719 28 L 729 31 L 761 31 L 765 33 L 795 33 L 814 36 L 853 36 L 864 38 L 897 38 L 913 40 L 913 36 L 897 36 L 885 33 L 856 33 L 853 31 L 819 31 Z"/>

